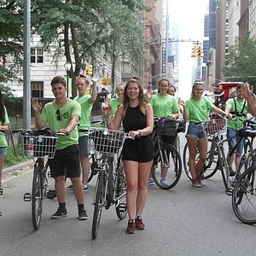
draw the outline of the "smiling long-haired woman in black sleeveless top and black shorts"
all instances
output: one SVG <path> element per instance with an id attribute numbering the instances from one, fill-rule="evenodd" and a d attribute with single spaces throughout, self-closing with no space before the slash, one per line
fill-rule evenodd
<path id="1" fill-rule="evenodd" d="M 122 149 L 122 160 L 126 178 L 126 202 L 129 215 L 127 234 L 144 230 L 142 213 L 148 195 L 148 175 L 154 158 L 154 146 L 149 136 L 153 131 L 154 116 L 152 106 L 144 102 L 143 88 L 137 79 L 130 79 L 125 85 L 124 102 L 110 118 L 111 106 L 103 108 L 109 129 L 119 130 L 123 122 L 129 137 Z"/>

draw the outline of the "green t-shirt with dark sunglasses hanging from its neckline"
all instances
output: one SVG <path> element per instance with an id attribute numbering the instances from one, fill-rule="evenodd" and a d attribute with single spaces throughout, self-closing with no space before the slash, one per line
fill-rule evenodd
<path id="1" fill-rule="evenodd" d="M 56 111 L 58 109 L 60 110 L 60 121 L 57 119 Z M 41 113 L 41 118 L 48 124 L 50 129 L 53 131 L 59 131 L 60 129 L 67 127 L 73 115 L 81 116 L 81 106 L 78 102 L 68 99 L 68 102 L 62 106 L 62 108 L 58 108 L 55 101 L 45 104 Z M 70 145 L 78 144 L 78 142 L 78 127 L 75 127 L 67 136 L 58 137 L 56 149 L 60 150 L 67 148 Z"/>

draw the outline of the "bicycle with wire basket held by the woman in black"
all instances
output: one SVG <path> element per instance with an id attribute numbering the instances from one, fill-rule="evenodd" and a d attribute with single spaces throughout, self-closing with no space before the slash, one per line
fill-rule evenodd
<path id="1" fill-rule="evenodd" d="M 111 131 L 107 128 L 94 128 L 89 138 L 93 140 L 96 151 L 102 154 L 97 166 L 97 181 L 92 204 L 94 213 L 92 220 L 92 239 L 96 239 L 102 216 L 102 208 L 108 210 L 115 205 L 119 219 L 124 219 L 126 208 L 125 173 L 121 164 L 120 149 L 127 137 L 124 131 Z"/>

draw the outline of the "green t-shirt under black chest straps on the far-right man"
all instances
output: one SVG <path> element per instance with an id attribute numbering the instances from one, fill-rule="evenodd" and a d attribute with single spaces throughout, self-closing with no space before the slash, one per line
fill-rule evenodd
<path id="1" fill-rule="evenodd" d="M 236 106 L 235 106 L 235 101 L 236 101 Z M 230 113 L 232 112 L 241 112 L 242 108 L 243 108 L 243 104 L 245 102 L 245 106 L 243 108 L 243 111 L 242 113 L 244 113 L 245 115 L 247 115 L 247 113 L 249 112 L 249 109 L 248 109 L 248 104 L 246 102 L 246 100 L 243 100 L 243 101 L 237 101 L 237 98 L 235 98 L 235 101 L 234 101 L 234 98 L 232 99 L 229 99 L 227 100 L 226 102 L 226 106 L 230 106 Z M 236 114 L 236 113 L 234 113 Z M 228 120 L 228 124 L 227 124 L 227 127 L 228 128 L 231 128 L 231 129 L 234 129 L 235 131 L 238 131 L 242 128 L 242 121 L 247 119 L 246 116 L 241 116 L 241 117 L 238 117 L 238 119 L 236 120 Z"/>

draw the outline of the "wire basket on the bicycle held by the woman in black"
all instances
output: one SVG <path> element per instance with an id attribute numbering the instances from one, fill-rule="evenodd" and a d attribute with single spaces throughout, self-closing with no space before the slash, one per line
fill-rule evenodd
<path id="1" fill-rule="evenodd" d="M 117 154 L 125 141 L 125 132 L 93 128 L 90 130 L 89 139 L 93 140 L 96 151 Z"/>

